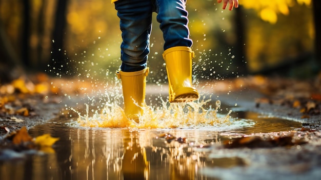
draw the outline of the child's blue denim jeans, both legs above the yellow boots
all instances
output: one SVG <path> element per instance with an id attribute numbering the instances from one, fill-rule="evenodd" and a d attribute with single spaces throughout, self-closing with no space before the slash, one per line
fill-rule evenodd
<path id="1" fill-rule="evenodd" d="M 192 46 L 189 38 L 186 0 L 118 0 L 115 9 L 120 20 L 123 43 L 121 70 L 133 72 L 147 67 L 152 12 L 157 13 L 163 31 L 164 50 Z"/>

